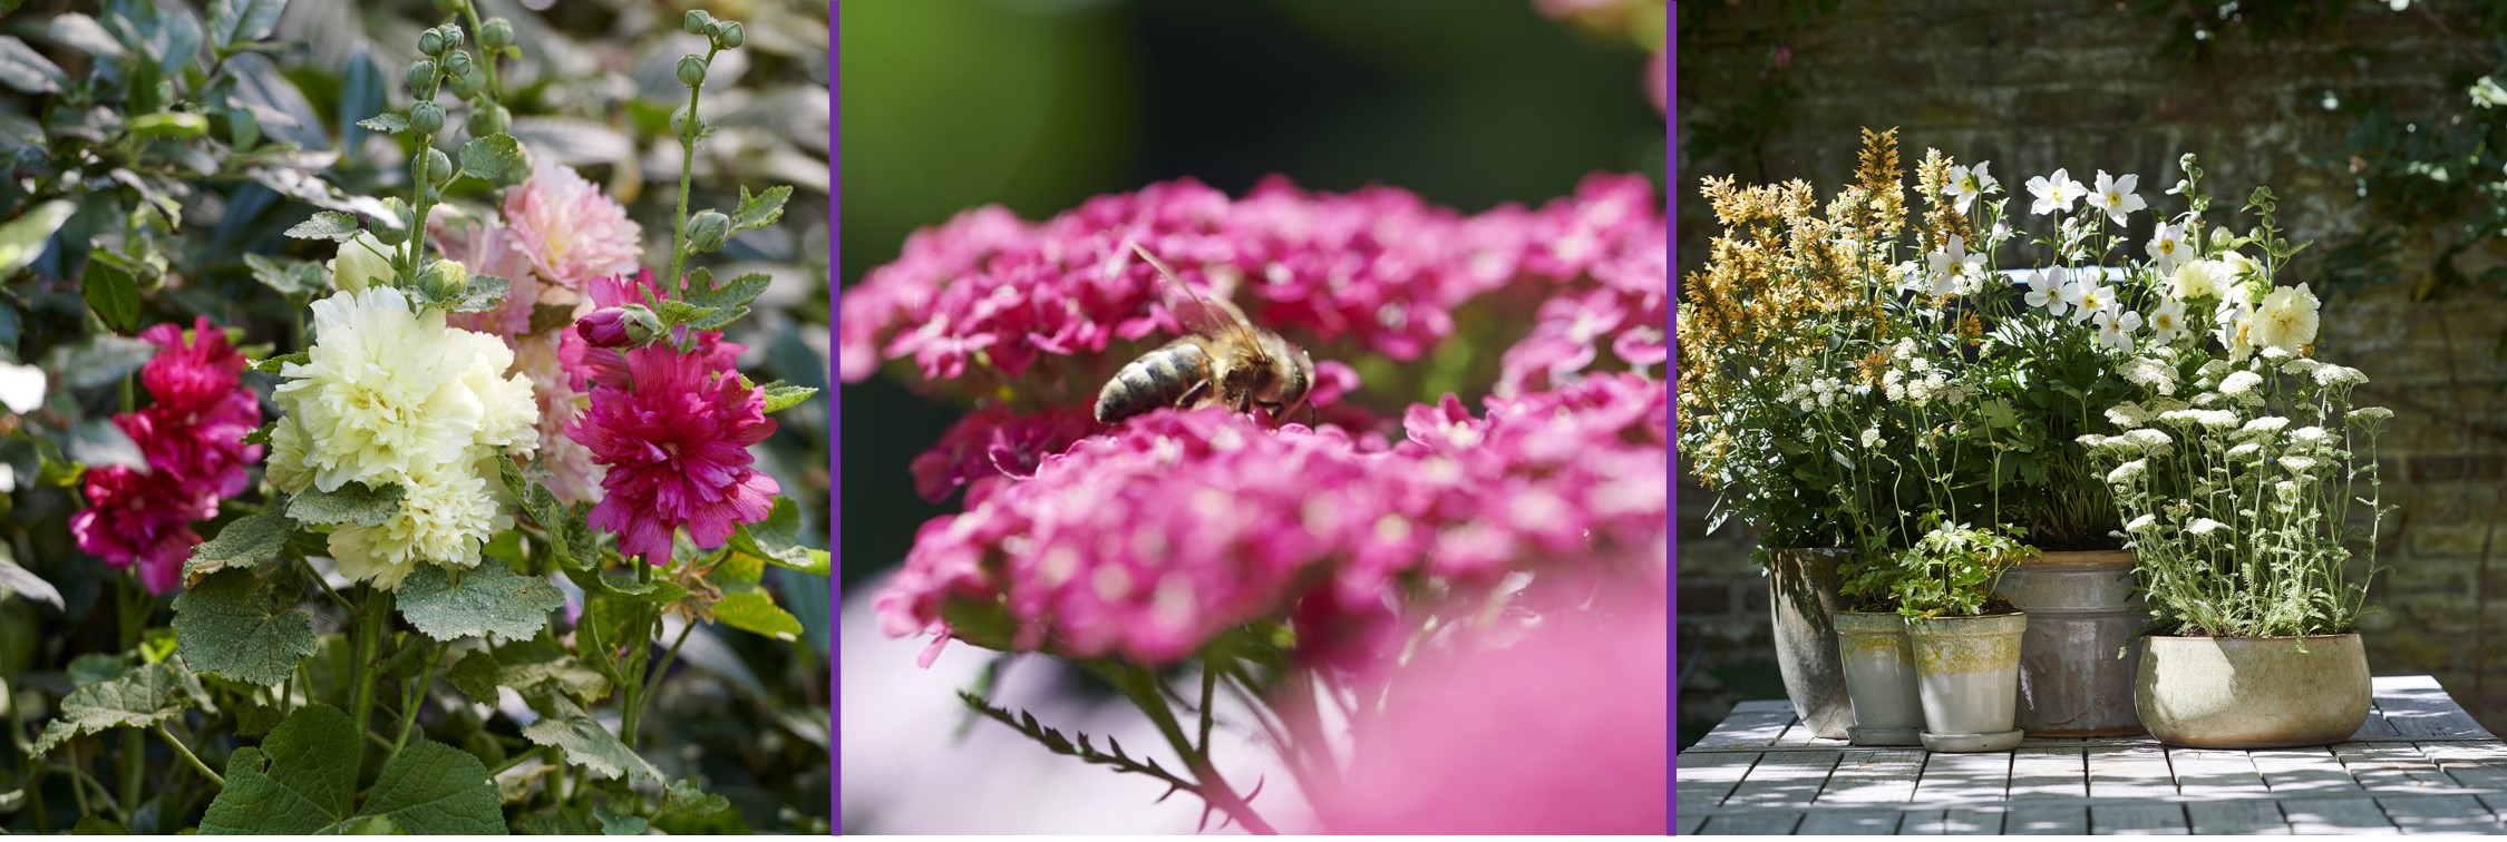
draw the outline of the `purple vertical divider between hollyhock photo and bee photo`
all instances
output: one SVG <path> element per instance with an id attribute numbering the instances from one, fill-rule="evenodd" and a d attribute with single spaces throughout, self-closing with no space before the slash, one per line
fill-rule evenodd
<path id="1" fill-rule="evenodd" d="M 837 371 L 845 371 L 845 343 L 840 341 L 840 326 L 845 323 L 845 296 L 842 296 L 842 263 L 837 253 L 845 251 L 845 70 L 837 55 L 845 50 L 842 30 L 845 20 L 840 15 L 840 0 L 827 0 L 827 549 L 835 564 L 827 566 L 827 734 L 835 752 L 827 752 L 827 832 L 845 834 L 845 694 L 842 674 L 845 667 L 845 541 L 840 534 L 845 511 L 845 383 Z"/>

